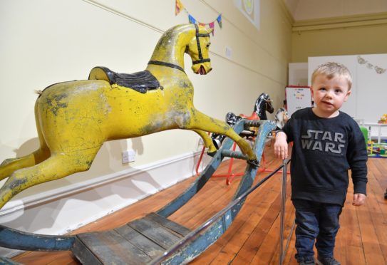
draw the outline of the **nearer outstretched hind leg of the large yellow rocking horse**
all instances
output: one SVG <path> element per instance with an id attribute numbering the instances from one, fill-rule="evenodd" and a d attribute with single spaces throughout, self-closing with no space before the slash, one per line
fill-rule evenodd
<path id="1" fill-rule="evenodd" d="M 72 154 L 51 155 L 37 165 L 16 170 L 0 189 L 0 209 L 26 188 L 88 170 L 99 149 L 96 147 Z"/>

